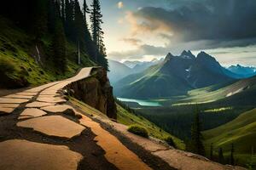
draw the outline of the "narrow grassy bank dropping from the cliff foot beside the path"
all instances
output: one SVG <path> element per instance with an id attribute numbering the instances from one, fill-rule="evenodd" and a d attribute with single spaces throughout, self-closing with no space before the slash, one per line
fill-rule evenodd
<path id="1" fill-rule="evenodd" d="M 117 121 L 119 123 L 122 123 L 127 126 L 137 124 L 142 127 L 145 127 L 147 128 L 149 135 L 157 139 L 165 139 L 168 136 L 172 136 L 170 133 L 166 133 L 166 131 L 156 126 L 153 122 L 149 122 L 143 116 L 137 116 L 135 114 L 132 114 L 129 111 L 126 111 L 120 105 L 117 105 L 117 110 L 118 110 Z M 174 140 L 175 144 L 177 144 L 177 147 L 179 149 L 184 150 L 184 144 L 181 139 L 178 139 L 177 137 L 174 137 L 174 136 L 172 136 L 172 139 Z"/>

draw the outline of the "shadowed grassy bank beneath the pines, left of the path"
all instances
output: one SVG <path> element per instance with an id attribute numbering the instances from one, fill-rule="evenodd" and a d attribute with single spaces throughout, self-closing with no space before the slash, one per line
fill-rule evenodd
<path id="1" fill-rule="evenodd" d="M 55 65 L 50 59 L 50 39 L 50 37 L 44 37 L 42 40 L 39 50 L 44 62 L 43 65 L 38 65 L 33 57 L 35 54 L 35 44 L 32 41 L 32 37 L 25 31 L 20 30 L 9 20 L 1 17 L 0 59 L 7 60 L 15 66 L 15 72 L 11 77 L 19 79 L 19 77 L 25 76 L 25 79 L 31 86 L 71 77 L 79 69 L 79 65 L 76 65 L 74 59 L 75 47 L 73 44 L 67 43 L 67 71 L 63 75 L 55 71 Z M 93 65 L 85 55 L 82 59 L 83 66 Z"/>

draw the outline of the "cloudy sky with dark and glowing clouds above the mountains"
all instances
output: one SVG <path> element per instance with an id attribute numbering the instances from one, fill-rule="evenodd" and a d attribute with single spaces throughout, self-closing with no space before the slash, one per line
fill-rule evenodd
<path id="1" fill-rule="evenodd" d="M 205 50 L 222 65 L 256 65 L 255 0 L 101 3 L 109 59 L 150 60 L 190 49 Z"/>

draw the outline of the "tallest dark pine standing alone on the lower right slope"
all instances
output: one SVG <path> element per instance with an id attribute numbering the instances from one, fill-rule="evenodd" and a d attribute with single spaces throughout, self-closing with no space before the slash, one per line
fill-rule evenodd
<path id="1" fill-rule="evenodd" d="M 205 156 L 205 148 L 202 143 L 200 113 L 196 106 L 195 120 L 191 127 L 191 151 L 195 154 Z"/>

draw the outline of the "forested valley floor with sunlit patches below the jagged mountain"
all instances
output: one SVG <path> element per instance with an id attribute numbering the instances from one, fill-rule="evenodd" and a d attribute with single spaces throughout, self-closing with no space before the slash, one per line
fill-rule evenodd
<path id="1" fill-rule="evenodd" d="M 190 94 L 193 95 L 194 99 L 183 101 L 181 97 L 177 97 L 176 102 L 179 105 L 173 105 L 173 101 L 168 103 L 168 99 L 158 99 L 156 101 L 160 104 L 164 103 L 164 107 L 144 107 L 139 111 L 151 122 L 164 127 L 167 132 L 184 139 L 190 134 L 195 104 L 202 112 L 204 130 L 208 130 L 230 122 L 241 113 L 255 108 L 255 89 L 256 77 L 252 77 L 230 85 L 227 84 L 227 86 L 218 85 L 191 91 Z M 236 92 L 239 93 L 236 94 Z M 226 97 L 230 93 L 233 95 Z M 209 100 L 215 101 L 207 102 Z"/>

